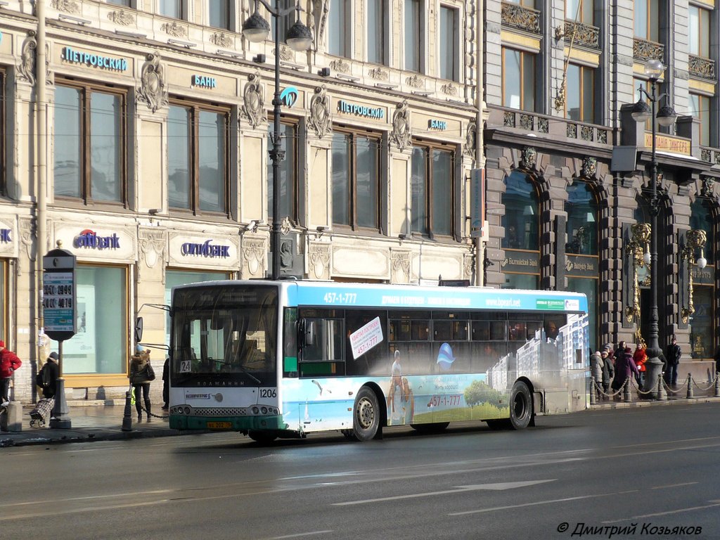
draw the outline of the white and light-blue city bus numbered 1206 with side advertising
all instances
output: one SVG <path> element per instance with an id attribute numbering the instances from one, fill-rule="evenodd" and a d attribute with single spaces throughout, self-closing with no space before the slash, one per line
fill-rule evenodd
<path id="1" fill-rule="evenodd" d="M 254 441 L 482 420 L 523 429 L 588 404 L 584 294 L 235 280 L 172 289 L 170 427 Z"/>

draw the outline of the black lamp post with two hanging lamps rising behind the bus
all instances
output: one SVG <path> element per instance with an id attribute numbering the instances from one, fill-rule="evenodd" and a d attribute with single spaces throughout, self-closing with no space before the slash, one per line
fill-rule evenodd
<path id="1" fill-rule="evenodd" d="M 255 12 L 248 17 L 246 22 L 243 23 L 243 35 L 248 38 L 251 42 L 261 42 L 266 40 L 270 32 L 270 25 L 268 22 L 258 13 L 258 2 L 265 6 L 265 9 L 275 17 L 284 17 L 292 12 L 300 12 L 301 8 L 299 5 L 282 9 L 280 7 L 280 0 L 275 0 L 275 8 L 273 9 L 270 4 L 265 0 L 256 0 Z M 273 94 L 273 133 L 272 133 L 272 148 L 269 151 L 270 159 L 272 161 L 272 228 L 270 231 L 270 248 L 272 251 L 272 279 L 276 280 L 280 277 L 280 164 L 285 157 L 285 152 L 282 150 L 282 135 L 280 134 L 280 105 L 282 101 L 280 99 L 280 24 L 276 20 L 275 24 L 275 92 Z M 300 22 L 298 18 L 292 27 L 287 30 L 285 35 L 285 42 L 289 45 L 292 50 L 303 51 L 310 48 L 312 43 L 312 34 L 310 29 Z"/>

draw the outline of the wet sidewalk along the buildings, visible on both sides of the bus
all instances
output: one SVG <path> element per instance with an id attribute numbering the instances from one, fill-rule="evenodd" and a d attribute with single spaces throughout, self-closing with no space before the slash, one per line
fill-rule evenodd
<path id="1" fill-rule="evenodd" d="M 598 401 L 590 405 L 589 410 L 613 410 L 632 407 L 651 407 L 655 405 L 685 405 L 689 403 L 720 402 L 714 392 L 698 392 L 701 395 L 687 398 L 685 395 L 671 396 L 667 400 L 638 400 L 633 395 L 631 402 Z M 17 433 L 1 431 L 0 448 L 3 446 L 26 446 L 30 444 L 59 444 L 89 441 L 119 441 L 129 438 L 167 437 L 194 434 L 197 431 L 183 432 L 168 427 L 166 411 L 160 405 L 153 405 L 160 418 L 153 417 L 150 422 L 145 418 L 138 423 L 135 408 L 132 408 L 132 430 L 122 431 L 122 417 L 125 413 L 125 400 L 68 401 L 71 428 L 31 428 L 30 410 L 32 405 L 22 409 L 22 431 Z M 46 426 L 49 425 L 46 423 Z"/>

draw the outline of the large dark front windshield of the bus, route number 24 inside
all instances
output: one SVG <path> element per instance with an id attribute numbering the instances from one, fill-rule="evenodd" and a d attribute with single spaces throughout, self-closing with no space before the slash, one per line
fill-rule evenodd
<path id="1" fill-rule="evenodd" d="M 171 382 L 264 386 L 276 377 L 276 287 L 190 287 L 174 292 Z"/>

